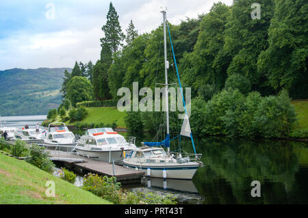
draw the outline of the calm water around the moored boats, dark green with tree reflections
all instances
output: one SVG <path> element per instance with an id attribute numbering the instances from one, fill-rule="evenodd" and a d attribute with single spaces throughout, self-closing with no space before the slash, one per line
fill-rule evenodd
<path id="1" fill-rule="evenodd" d="M 7 125 L 44 120 L 28 118 L 9 119 Z M 135 136 L 137 145 L 153 139 L 149 134 Z M 199 168 L 192 180 L 143 178 L 142 185 L 125 188 L 173 194 L 181 204 L 308 204 L 307 142 L 210 137 L 195 139 L 195 144 L 197 152 L 203 154 L 205 167 Z M 177 148 L 177 141 L 172 141 L 170 150 Z M 190 141 L 183 138 L 181 148 L 193 152 Z M 254 180 L 261 183 L 261 197 L 251 197 Z M 76 185 L 81 184 L 79 177 Z"/>

